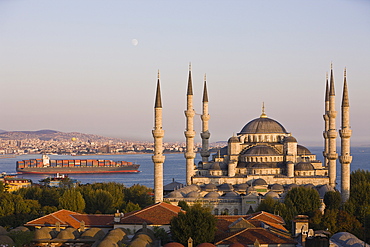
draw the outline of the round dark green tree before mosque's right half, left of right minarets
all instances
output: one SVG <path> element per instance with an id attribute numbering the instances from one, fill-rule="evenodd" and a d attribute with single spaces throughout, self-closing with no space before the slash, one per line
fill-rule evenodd
<path id="1" fill-rule="evenodd" d="M 320 207 L 320 196 L 315 189 L 297 187 L 287 193 L 284 204 L 287 208 L 291 208 L 294 214 L 312 216 Z"/>

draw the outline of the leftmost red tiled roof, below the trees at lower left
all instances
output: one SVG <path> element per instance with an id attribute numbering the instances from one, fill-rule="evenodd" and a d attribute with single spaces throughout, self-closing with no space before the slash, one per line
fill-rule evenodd
<path id="1" fill-rule="evenodd" d="M 79 214 L 66 209 L 45 215 L 43 217 L 31 220 L 25 226 L 55 226 L 60 222 L 60 226 L 79 228 L 80 222 L 84 221 L 86 227 L 102 227 L 108 226 L 113 222 L 114 215 L 99 215 L 99 214 Z"/>

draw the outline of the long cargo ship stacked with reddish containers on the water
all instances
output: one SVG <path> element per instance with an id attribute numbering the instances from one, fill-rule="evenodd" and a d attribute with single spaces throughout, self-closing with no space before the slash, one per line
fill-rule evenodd
<path id="1" fill-rule="evenodd" d="M 42 155 L 41 159 L 17 161 L 18 174 L 91 174 L 91 173 L 137 173 L 140 165 L 127 161 L 113 160 L 51 160 Z"/>

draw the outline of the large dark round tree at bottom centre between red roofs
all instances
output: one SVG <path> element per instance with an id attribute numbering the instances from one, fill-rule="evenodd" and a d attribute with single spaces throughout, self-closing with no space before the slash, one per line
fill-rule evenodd
<path id="1" fill-rule="evenodd" d="M 179 212 L 171 220 L 171 233 L 175 241 L 187 245 L 189 237 L 194 246 L 200 243 L 213 242 L 216 232 L 216 218 L 211 214 L 210 208 L 195 204 L 186 213 Z"/>

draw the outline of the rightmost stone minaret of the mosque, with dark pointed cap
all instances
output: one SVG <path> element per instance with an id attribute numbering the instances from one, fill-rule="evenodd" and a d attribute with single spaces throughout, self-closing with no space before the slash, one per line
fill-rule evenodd
<path id="1" fill-rule="evenodd" d="M 339 161 L 342 165 L 341 170 L 341 192 L 342 201 L 345 202 L 349 199 L 350 191 L 350 165 L 352 162 L 352 156 L 350 155 L 350 137 L 352 130 L 349 124 L 349 98 L 347 89 L 347 75 L 346 69 L 344 69 L 344 85 L 343 85 L 343 98 L 342 98 L 342 127 L 339 130 L 341 138 L 341 155 Z"/>

